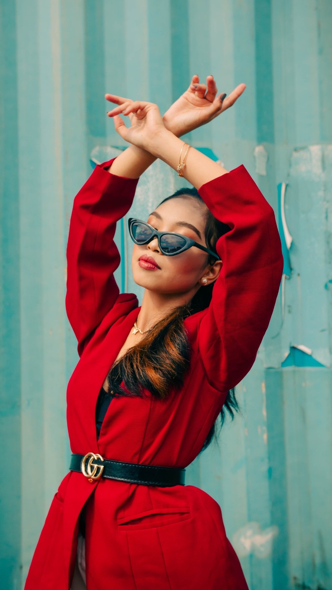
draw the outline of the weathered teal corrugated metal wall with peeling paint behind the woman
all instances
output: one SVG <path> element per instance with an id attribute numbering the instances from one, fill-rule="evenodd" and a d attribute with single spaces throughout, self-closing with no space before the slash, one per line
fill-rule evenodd
<path id="1" fill-rule="evenodd" d="M 236 388 L 242 415 L 187 481 L 222 507 L 250 590 L 331 590 L 332 2 L 0 0 L 0 27 L 1 588 L 22 588 L 69 464 L 71 205 L 94 163 L 126 146 L 104 94 L 164 113 L 212 73 L 219 91 L 245 93 L 184 139 L 246 166 L 275 209 L 285 274 Z M 186 184 L 155 162 L 131 213 Z M 118 283 L 141 299 L 125 224 L 116 240 Z"/>

